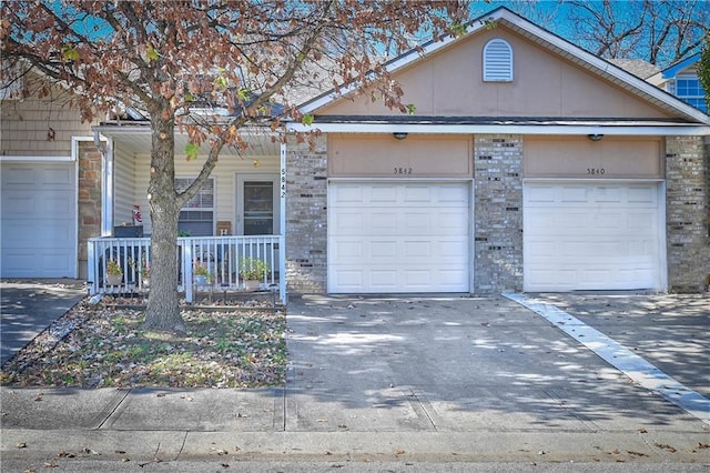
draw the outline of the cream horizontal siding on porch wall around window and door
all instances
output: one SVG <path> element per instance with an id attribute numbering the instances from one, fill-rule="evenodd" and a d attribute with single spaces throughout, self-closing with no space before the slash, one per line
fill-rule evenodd
<path id="1" fill-rule="evenodd" d="M 255 167 L 254 162 L 257 161 L 258 165 Z M 202 169 L 204 158 L 200 157 L 194 161 L 186 161 L 184 158 L 175 159 L 175 177 L 178 178 L 194 178 Z M 236 214 L 236 174 L 240 173 L 273 173 L 278 174 L 281 167 L 281 160 L 277 155 L 274 157 L 235 157 L 223 155 L 220 158 L 217 167 L 212 172 L 212 178 L 215 179 L 215 205 L 216 215 L 215 224 L 217 220 L 226 220 L 232 222 L 232 229 L 235 227 Z M 145 233 L 151 232 L 151 219 L 150 208 L 148 204 L 148 183 L 150 180 L 150 155 L 140 154 L 136 158 L 135 177 L 134 177 L 134 194 L 131 202 L 124 203 L 128 207 L 128 211 L 131 211 L 131 207 L 134 203 L 141 205 L 143 213 L 143 231 Z M 118 214 L 118 209 L 116 209 Z M 215 230 L 216 231 L 216 230 Z"/>

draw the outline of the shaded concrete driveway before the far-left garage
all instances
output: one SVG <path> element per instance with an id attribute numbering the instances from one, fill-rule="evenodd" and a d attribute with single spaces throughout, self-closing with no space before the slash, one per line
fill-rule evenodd
<path id="1" fill-rule="evenodd" d="M 0 365 L 84 295 L 87 290 L 79 280 L 0 281 Z"/>

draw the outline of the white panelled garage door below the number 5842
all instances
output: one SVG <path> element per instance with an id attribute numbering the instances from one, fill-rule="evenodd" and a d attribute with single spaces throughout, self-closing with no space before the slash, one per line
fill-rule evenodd
<path id="1" fill-rule="evenodd" d="M 328 291 L 468 292 L 469 185 L 332 182 Z"/>

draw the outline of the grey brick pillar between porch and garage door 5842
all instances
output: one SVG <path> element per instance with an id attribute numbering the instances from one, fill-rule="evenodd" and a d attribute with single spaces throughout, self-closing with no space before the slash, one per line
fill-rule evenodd
<path id="1" fill-rule="evenodd" d="M 286 281 L 288 291 L 327 291 L 327 140 L 315 149 L 291 138 L 286 154 Z"/>

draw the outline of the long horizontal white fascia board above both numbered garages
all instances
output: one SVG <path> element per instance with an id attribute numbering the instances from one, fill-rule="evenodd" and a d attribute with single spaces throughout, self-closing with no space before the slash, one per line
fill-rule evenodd
<path id="1" fill-rule="evenodd" d="M 396 123 L 288 123 L 286 130 L 307 133 L 417 133 L 417 134 L 606 134 L 632 137 L 708 137 L 708 125 L 526 125 L 526 124 L 396 124 Z"/>

